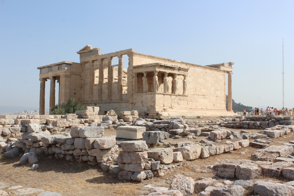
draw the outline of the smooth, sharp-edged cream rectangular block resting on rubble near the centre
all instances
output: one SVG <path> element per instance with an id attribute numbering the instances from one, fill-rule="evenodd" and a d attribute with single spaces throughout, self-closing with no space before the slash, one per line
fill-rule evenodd
<path id="1" fill-rule="evenodd" d="M 146 127 L 141 126 L 119 126 L 116 128 L 116 137 L 134 140 L 143 139 L 142 134 L 145 131 Z"/>

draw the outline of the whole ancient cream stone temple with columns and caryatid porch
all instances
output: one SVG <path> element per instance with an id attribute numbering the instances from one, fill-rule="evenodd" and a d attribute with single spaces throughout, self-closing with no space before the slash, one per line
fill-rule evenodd
<path id="1" fill-rule="evenodd" d="M 101 54 L 100 48 L 89 45 L 77 53 L 80 63 L 63 61 L 38 67 L 41 115 L 45 111 L 47 80 L 50 108 L 56 104 L 57 80 L 59 103 L 75 98 L 85 106 L 100 107 L 100 115 L 109 110 L 138 110 L 140 115 L 156 118 L 233 114 L 232 62 L 201 66 L 137 53 L 134 49 Z M 116 65 L 114 58 L 118 58 Z M 123 60 L 128 61 L 127 69 L 123 68 Z"/>

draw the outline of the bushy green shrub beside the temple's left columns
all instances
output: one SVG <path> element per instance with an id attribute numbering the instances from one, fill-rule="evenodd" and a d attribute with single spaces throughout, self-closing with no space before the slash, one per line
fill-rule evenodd
<path id="1" fill-rule="evenodd" d="M 51 113 L 54 115 L 74 114 L 76 110 L 86 110 L 85 106 L 78 103 L 75 98 L 67 100 L 67 103 L 57 104 L 51 108 Z"/>

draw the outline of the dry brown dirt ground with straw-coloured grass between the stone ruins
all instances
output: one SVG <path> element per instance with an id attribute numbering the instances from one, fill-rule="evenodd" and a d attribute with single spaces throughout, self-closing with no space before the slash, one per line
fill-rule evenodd
<path id="1" fill-rule="evenodd" d="M 207 118 L 213 119 L 213 118 Z M 215 117 L 216 119 L 216 117 Z M 199 120 L 199 119 L 198 119 Z M 203 120 L 203 119 L 201 119 Z M 238 131 L 241 129 L 226 128 L 228 130 Z M 249 130 L 249 129 L 248 129 Z M 249 130 L 251 133 L 257 133 L 260 130 Z M 115 129 L 105 129 L 105 136 L 116 135 Z M 189 139 L 193 142 L 199 142 L 206 137 L 197 137 L 196 139 Z M 177 141 L 187 140 L 184 138 L 177 139 Z M 276 138 L 270 145 L 282 145 L 283 142 L 294 140 L 293 133 L 285 135 L 281 138 Z M 169 138 L 165 141 L 175 141 Z M 232 140 L 235 141 L 235 140 Z M 221 142 L 220 144 L 222 144 Z M 245 149 L 249 150 L 248 152 Z M 121 150 L 121 149 L 120 149 Z M 192 177 L 194 180 L 199 180 L 201 177 L 213 177 L 210 169 L 204 167 L 225 159 L 250 159 L 251 153 L 256 148 L 247 147 L 234 150 L 232 152 L 223 153 L 220 155 L 211 156 L 205 159 L 197 159 L 188 161 L 188 165 L 176 167 L 173 172 L 169 171 L 164 177 L 155 177 L 151 180 L 143 182 L 126 182 L 119 180 L 117 177 L 104 173 L 98 166 L 90 166 L 87 163 L 69 162 L 64 159 L 56 160 L 49 159 L 49 155 L 41 156 L 39 161 L 39 169 L 31 170 L 30 165 L 20 165 L 19 157 L 15 159 L 5 159 L 0 157 L 0 182 L 4 182 L 9 186 L 21 185 L 23 188 L 39 188 L 45 191 L 59 192 L 61 195 L 147 195 L 153 192 L 150 189 L 143 187 L 151 184 L 154 187 L 163 186 L 169 187 L 173 175 L 182 174 Z M 244 155 L 240 152 L 245 151 Z M 172 163 L 171 165 L 175 165 Z M 205 171 L 204 171 L 205 170 Z M 268 177 L 261 176 L 260 178 L 268 179 Z M 284 179 L 276 179 L 282 180 Z M 5 190 L 5 189 L 3 189 Z M 9 190 L 5 190 L 9 192 Z M 14 194 L 10 194 L 14 196 Z M 35 196 L 38 194 L 33 194 Z"/>

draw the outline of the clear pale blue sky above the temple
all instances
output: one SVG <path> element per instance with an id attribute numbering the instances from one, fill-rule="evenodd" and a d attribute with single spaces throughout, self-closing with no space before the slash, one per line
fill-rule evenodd
<path id="1" fill-rule="evenodd" d="M 0 105 L 39 108 L 37 67 L 86 45 L 199 65 L 235 62 L 233 99 L 294 107 L 294 1 L 0 2 Z M 46 108 L 49 108 L 49 81 Z"/>

